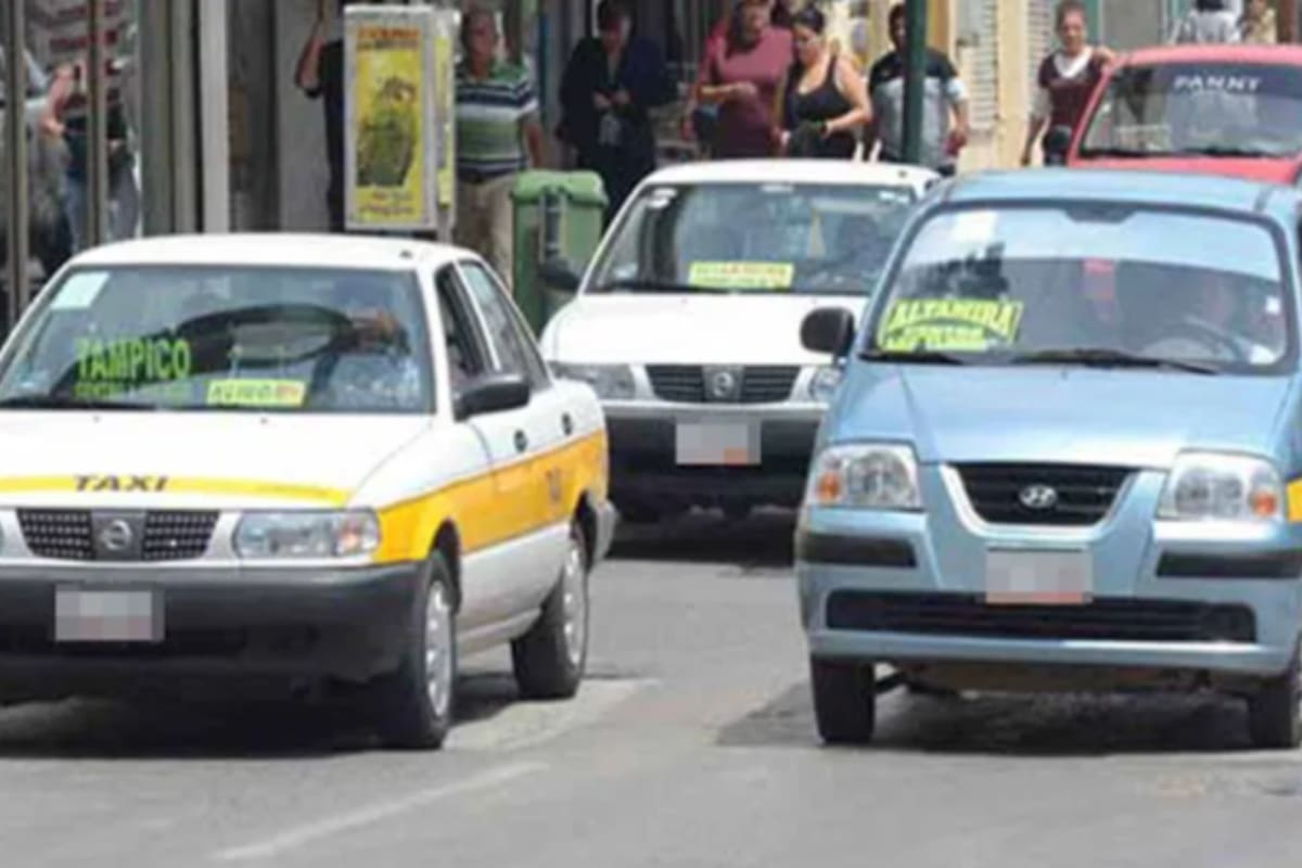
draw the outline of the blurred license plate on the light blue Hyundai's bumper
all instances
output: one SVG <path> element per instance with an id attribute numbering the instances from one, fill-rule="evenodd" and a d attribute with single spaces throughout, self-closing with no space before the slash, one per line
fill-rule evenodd
<path id="1" fill-rule="evenodd" d="M 986 603 L 991 605 L 1085 605 L 1092 596 L 1088 552 L 986 553 Z"/>

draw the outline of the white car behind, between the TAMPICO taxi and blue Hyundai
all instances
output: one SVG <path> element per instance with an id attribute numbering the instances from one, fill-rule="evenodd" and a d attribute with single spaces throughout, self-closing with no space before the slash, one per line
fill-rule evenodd
<path id="1" fill-rule="evenodd" d="M 630 522 L 742 518 L 801 501 L 840 371 L 799 342 L 816 307 L 858 314 L 937 176 L 832 160 L 697 163 L 624 206 L 540 346 L 605 411 L 611 496 Z"/>

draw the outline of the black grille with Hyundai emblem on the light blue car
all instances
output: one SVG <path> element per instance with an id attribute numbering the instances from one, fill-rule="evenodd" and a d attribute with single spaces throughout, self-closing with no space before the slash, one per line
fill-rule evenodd
<path id="1" fill-rule="evenodd" d="M 1124 467 L 1075 465 L 960 465 L 973 509 L 993 524 L 1098 524 L 1112 509 L 1117 492 L 1130 476 Z M 1047 487 L 1051 506 L 1032 509 L 1022 493 Z"/>

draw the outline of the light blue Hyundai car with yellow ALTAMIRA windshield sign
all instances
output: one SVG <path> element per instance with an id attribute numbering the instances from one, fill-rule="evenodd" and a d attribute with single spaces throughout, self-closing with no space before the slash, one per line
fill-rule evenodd
<path id="1" fill-rule="evenodd" d="M 1213 690 L 1302 742 L 1299 219 L 1228 178 L 979 174 L 862 321 L 807 316 L 845 370 L 797 528 L 825 742 L 871 739 L 884 681 Z"/>

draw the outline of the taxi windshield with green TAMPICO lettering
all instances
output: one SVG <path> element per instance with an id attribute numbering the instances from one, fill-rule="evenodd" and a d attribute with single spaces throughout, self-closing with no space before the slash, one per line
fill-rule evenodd
<path id="1" fill-rule="evenodd" d="M 424 413 L 414 277 L 352 269 L 111 267 L 42 294 L 0 406 Z"/>

